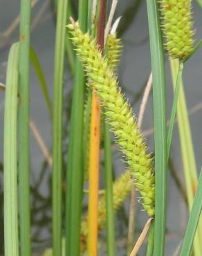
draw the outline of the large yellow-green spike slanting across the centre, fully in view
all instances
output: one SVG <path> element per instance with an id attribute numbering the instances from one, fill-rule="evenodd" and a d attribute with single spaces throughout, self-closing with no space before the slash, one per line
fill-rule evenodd
<path id="1" fill-rule="evenodd" d="M 117 136 L 117 143 L 125 154 L 131 176 L 141 194 L 141 203 L 149 216 L 154 216 L 154 173 L 152 159 L 147 154 L 142 134 L 138 129 L 134 113 L 118 89 L 118 81 L 107 58 L 102 57 L 99 48 L 89 33 L 83 34 L 77 23 L 68 25 L 72 41 L 80 60 L 91 80 L 90 84 L 106 109 L 105 115 Z"/>

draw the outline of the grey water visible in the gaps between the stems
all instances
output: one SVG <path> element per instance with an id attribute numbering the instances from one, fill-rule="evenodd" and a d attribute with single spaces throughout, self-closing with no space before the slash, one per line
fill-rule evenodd
<path id="1" fill-rule="evenodd" d="M 6 79 L 6 65 L 8 60 L 8 51 L 10 44 L 16 42 L 18 39 L 18 28 L 10 35 L 8 39 L 3 37 L 3 32 L 10 26 L 11 22 L 19 14 L 19 0 L 0 0 L 0 82 L 5 83 Z M 51 98 L 53 98 L 53 68 L 54 68 L 54 51 L 55 51 L 55 18 L 53 9 L 48 0 L 39 0 L 35 8 L 33 8 L 33 21 L 40 10 L 46 5 L 42 17 L 39 18 L 37 24 L 34 25 L 31 44 L 35 48 L 39 60 L 42 64 L 48 89 Z M 76 8 L 77 1 L 74 1 Z M 202 38 L 202 10 L 193 1 L 194 6 L 194 27 L 196 28 L 196 38 Z M 128 12 L 125 12 L 128 10 Z M 147 26 L 147 10 L 145 1 L 141 0 L 125 0 L 118 2 L 116 17 L 125 12 L 127 15 L 122 17 L 122 24 L 129 19 L 132 12 L 135 13 L 131 19 L 131 24 L 128 29 L 122 33 L 122 43 L 124 45 L 120 68 L 118 71 L 120 77 L 120 84 L 124 88 L 130 102 L 133 103 L 135 113 L 138 113 L 140 107 L 140 99 L 145 87 L 145 82 L 151 71 L 150 66 L 150 53 L 149 53 L 149 36 Z M 202 164 L 202 109 L 201 95 L 202 95 L 202 51 L 201 49 L 185 64 L 184 82 L 185 82 L 185 95 L 187 98 L 188 109 L 198 107 L 198 110 L 190 116 L 190 123 L 192 128 L 192 138 L 194 143 L 194 150 L 196 156 L 196 163 L 199 170 Z M 39 132 L 42 134 L 44 142 L 48 149 L 51 150 L 51 127 L 50 119 L 46 103 L 39 87 L 37 76 L 31 69 L 31 89 L 30 89 L 30 115 L 32 120 L 37 125 Z M 65 93 L 64 100 L 65 113 L 64 113 L 64 134 L 68 130 L 69 106 L 71 104 L 71 86 L 72 75 L 68 69 L 68 62 L 66 63 L 65 73 Z M 1 200 L 1 253 L 3 250 L 3 182 L 2 182 L 2 161 L 3 161 L 3 101 L 4 95 L 0 91 L 0 200 Z M 172 102 L 172 86 L 169 75 L 169 65 L 167 64 L 167 103 L 168 113 Z M 143 131 L 153 127 L 153 113 L 152 113 L 152 97 L 150 96 L 143 119 Z M 67 138 L 67 137 L 66 137 Z M 50 225 L 51 225 L 51 197 L 50 197 L 50 167 L 44 161 L 44 155 L 39 149 L 32 132 L 30 132 L 31 142 L 31 205 L 32 205 L 32 234 L 33 234 L 33 250 L 40 255 L 43 248 L 50 246 Z M 151 151 L 154 150 L 154 136 L 151 134 L 147 137 L 147 143 Z M 67 139 L 64 141 L 64 159 L 66 160 L 66 144 Z M 120 154 L 114 152 L 114 166 L 116 167 L 116 176 L 125 170 L 125 165 L 120 161 Z M 174 131 L 174 140 L 172 143 L 171 152 L 172 165 L 176 170 L 178 176 L 183 180 L 183 166 L 181 161 L 181 152 L 178 139 L 177 126 Z M 65 166 L 64 166 L 65 170 Z M 101 171 L 102 172 L 102 171 Z M 102 173 L 101 173 L 102 176 Z M 167 237 L 166 237 L 166 255 L 173 255 L 176 246 L 183 237 L 185 225 L 187 222 L 187 208 L 184 200 L 179 193 L 174 179 L 169 177 L 169 192 L 167 201 Z M 100 187 L 103 182 L 100 182 Z M 138 206 L 139 208 L 139 206 Z M 127 237 L 127 220 L 128 220 L 129 200 L 116 214 L 116 241 L 118 253 L 117 255 L 125 255 L 125 243 Z M 136 236 L 143 228 L 147 216 L 145 213 L 138 214 L 136 221 Z M 100 239 L 100 255 L 106 255 L 105 234 L 102 232 Z M 39 253 L 39 254 L 38 254 Z M 145 248 L 141 250 L 139 255 L 145 255 Z"/>

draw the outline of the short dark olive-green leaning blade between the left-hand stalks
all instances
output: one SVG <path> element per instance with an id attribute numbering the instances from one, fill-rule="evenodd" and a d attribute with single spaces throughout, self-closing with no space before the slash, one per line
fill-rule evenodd
<path id="1" fill-rule="evenodd" d="M 37 73 L 37 76 L 39 78 L 39 82 L 40 82 L 40 85 L 42 86 L 42 91 L 44 93 L 44 98 L 46 100 L 48 111 L 49 111 L 50 117 L 52 117 L 52 104 L 50 100 L 50 95 L 48 93 L 46 78 L 44 77 L 42 66 L 37 57 L 37 53 L 35 53 L 35 50 L 33 49 L 33 47 L 30 47 L 30 60 L 33 63 L 33 67 L 35 68 L 35 72 Z"/>

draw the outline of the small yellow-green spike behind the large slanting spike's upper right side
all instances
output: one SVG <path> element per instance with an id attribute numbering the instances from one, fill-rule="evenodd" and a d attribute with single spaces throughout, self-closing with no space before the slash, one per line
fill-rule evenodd
<path id="1" fill-rule="evenodd" d="M 116 34 L 109 34 L 107 37 L 107 60 L 111 68 L 116 69 L 119 63 L 122 44 L 120 38 Z"/>

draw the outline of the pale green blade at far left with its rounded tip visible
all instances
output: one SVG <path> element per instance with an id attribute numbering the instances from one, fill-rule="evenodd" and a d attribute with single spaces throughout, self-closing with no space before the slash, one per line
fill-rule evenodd
<path id="1" fill-rule="evenodd" d="M 17 90 L 19 44 L 13 44 L 8 56 L 4 114 L 3 195 L 4 250 L 6 256 L 19 255 L 17 207 Z"/>

